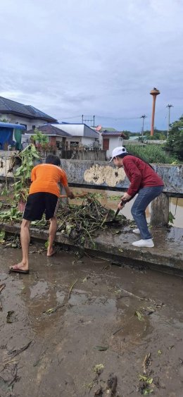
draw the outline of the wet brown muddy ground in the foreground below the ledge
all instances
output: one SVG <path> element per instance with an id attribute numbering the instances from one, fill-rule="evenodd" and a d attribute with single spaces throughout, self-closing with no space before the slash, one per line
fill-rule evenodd
<path id="1" fill-rule="evenodd" d="M 182 397 L 182 277 L 43 250 L 0 246 L 0 396 Z"/>

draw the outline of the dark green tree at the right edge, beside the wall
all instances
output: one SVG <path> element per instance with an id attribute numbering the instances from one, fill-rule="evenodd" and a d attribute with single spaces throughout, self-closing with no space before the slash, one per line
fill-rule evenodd
<path id="1" fill-rule="evenodd" d="M 179 160 L 183 160 L 183 116 L 174 121 L 170 127 L 165 149 L 175 154 Z"/>

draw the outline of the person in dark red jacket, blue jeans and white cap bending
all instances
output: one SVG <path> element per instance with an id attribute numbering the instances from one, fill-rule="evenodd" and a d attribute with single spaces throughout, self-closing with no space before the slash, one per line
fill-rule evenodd
<path id="1" fill-rule="evenodd" d="M 149 163 L 128 153 L 123 146 L 113 149 L 112 160 L 118 168 L 124 167 L 127 178 L 130 180 L 130 187 L 122 195 L 121 200 L 128 202 L 138 193 L 131 212 L 137 224 L 133 232 L 140 234 L 141 240 L 135 241 L 132 245 L 152 248 L 154 243 L 147 226 L 145 211 L 150 202 L 163 192 L 163 181 Z M 118 204 L 118 208 L 122 209 L 122 205 Z"/>

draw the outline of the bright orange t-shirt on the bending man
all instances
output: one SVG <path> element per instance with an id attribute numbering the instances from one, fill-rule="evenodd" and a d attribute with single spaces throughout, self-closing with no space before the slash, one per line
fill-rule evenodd
<path id="1" fill-rule="evenodd" d="M 53 164 L 38 164 L 38 166 L 35 166 L 31 172 L 31 181 L 30 194 L 46 192 L 60 197 L 58 183 L 63 186 L 68 185 L 65 171 Z"/>

